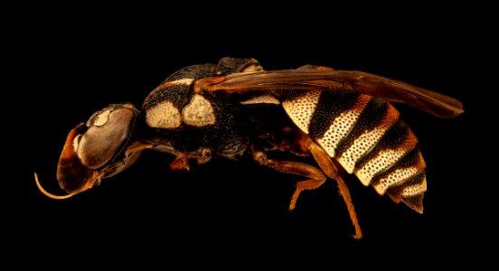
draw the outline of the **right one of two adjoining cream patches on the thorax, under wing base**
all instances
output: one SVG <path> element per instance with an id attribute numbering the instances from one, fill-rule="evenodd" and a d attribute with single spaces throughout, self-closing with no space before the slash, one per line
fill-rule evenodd
<path id="1" fill-rule="evenodd" d="M 215 124 L 212 104 L 206 98 L 195 94 L 191 102 L 182 110 L 184 124 L 190 126 L 208 126 Z"/>

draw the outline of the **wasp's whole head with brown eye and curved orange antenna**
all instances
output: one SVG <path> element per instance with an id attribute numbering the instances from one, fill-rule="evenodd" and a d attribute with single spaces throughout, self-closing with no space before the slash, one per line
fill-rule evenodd
<path id="1" fill-rule="evenodd" d="M 134 164 L 144 149 L 130 144 L 138 113 L 131 104 L 111 104 L 71 129 L 57 166 L 57 180 L 68 194 L 46 192 L 35 173 L 38 188 L 51 198 L 65 199 Z"/>

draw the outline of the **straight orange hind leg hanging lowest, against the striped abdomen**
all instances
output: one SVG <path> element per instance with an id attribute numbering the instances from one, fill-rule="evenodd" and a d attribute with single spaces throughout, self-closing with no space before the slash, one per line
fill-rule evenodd
<path id="1" fill-rule="evenodd" d="M 352 197 L 350 196 L 350 191 L 344 182 L 344 179 L 338 172 L 338 167 L 333 163 L 328 154 L 325 153 L 324 149 L 315 143 L 310 143 L 310 153 L 314 156 L 315 162 L 319 164 L 319 167 L 324 171 L 324 173 L 331 179 L 334 179 L 338 183 L 338 189 L 340 195 L 344 198 L 344 203 L 346 203 L 346 208 L 350 214 L 350 220 L 352 220 L 353 227 L 355 227 L 355 234 L 353 238 L 362 238 L 362 230 L 359 225 L 359 220 L 357 220 L 357 214 L 353 208 Z"/>

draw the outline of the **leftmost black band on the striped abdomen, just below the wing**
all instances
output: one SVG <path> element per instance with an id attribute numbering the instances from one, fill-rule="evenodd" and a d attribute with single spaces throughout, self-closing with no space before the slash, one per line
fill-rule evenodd
<path id="1" fill-rule="evenodd" d="M 323 91 L 310 119 L 308 134 L 312 138 L 322 137 L 334 118 L 353 107 L 358 97 L 358 93 L 350 91 Z"/>

